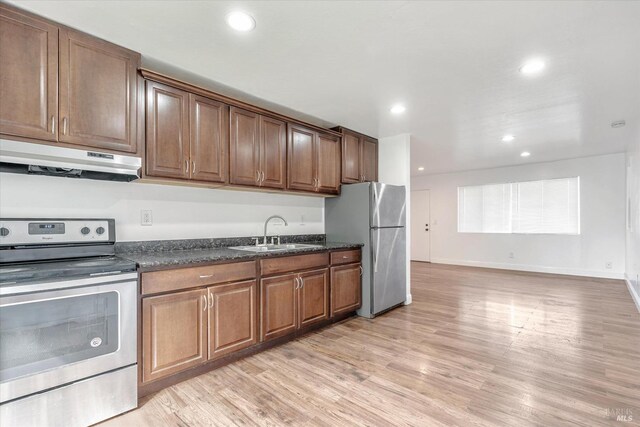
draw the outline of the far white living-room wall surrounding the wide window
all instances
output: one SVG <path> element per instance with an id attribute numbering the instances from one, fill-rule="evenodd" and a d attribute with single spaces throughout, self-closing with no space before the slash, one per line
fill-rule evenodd
<path id="1" fill-rule="evenodd" d="M 580 176 L 581 234 L 457 232 L 457 187 Z M 431 190 L 431 260 L 526 271 L 622 278 L 625 271 L 625 155 L 412 177 Z M 509 253 L 514 258 L 509 258 Z M 605 263 L 611 261 L 612 269 Z"/>

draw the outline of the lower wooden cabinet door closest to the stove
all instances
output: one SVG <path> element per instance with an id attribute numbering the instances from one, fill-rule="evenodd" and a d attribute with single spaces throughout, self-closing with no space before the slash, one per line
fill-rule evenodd
<path id="1" fill-rule="evenodd" d="M 204 290 L 143 298 L 143 382 L 174 374 L 207 360 L 206 308 Z"/>

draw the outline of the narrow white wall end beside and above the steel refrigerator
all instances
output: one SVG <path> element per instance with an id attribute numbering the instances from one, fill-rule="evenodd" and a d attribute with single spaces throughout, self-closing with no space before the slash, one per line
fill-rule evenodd
<path id="1" fill-rule="evenodd" d="M 402 134 L 378 140 L 378 181 L 407 189 L 407 299 L 411 304 L 411 136 Z"/>

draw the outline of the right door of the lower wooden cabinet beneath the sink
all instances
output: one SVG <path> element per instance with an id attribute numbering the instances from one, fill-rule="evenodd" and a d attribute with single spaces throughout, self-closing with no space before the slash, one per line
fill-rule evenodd
<path id="1" fill-rule="evenodd" d="M 299 327 L 329 317 L 329 269 L 301 273 Z"/>

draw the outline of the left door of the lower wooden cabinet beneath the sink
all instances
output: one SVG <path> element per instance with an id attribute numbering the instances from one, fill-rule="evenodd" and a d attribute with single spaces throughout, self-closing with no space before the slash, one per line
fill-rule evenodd
<path id="1" fill-rule="evenodd" d="M 297 274 L 260 280 L 262 324 L 260 338 L 267 341 L 294 332 L 297 328 Z"/>

